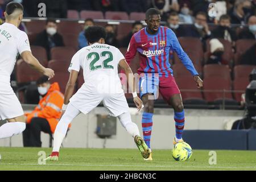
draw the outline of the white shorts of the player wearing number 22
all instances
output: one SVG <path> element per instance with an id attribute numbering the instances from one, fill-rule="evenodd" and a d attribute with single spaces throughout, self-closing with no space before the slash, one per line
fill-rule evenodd
<path id="1" fill-rule="evenodd" d="M 85 85 L 82 85 L 69 101 L 76 109 L 84 114 L 89 113 L 89 111 L 97 107 L 101 101 L 103 101 L 109 114 L 114 117 L 129 111 L 124 93 L 100 94 Z"/>

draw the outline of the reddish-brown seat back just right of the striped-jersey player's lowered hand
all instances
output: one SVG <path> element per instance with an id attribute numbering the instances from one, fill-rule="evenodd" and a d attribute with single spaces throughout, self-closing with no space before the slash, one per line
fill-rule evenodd
<path id="1" fill-rule="evenodd" d="M 206 64 L 203 68 L 204 78 L 220 77 L 230 80 L 230 69 L 228 65 Z"/>

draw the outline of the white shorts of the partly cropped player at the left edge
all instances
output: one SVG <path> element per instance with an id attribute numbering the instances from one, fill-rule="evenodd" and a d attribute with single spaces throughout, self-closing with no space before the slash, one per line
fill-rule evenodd
<path id="1" fill-rule="evenodd" d="M 22 106 L 15 93 L 0 94 L 0 120 L 16 118 L 23 114 Z"/>

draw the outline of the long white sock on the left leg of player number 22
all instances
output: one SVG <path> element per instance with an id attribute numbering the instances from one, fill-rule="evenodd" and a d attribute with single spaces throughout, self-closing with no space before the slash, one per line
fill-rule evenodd
<path id="1" fill-rule="evenodd" d="M 68 104 L 67 110 L 61 117 L 59 123 L 56 126 L 55 133 L 54 133 L 54 140 L 53 140 L 53 152 L 59 152 L 61 143 L 67 134 L 68 125 L 71 121 L 80 114 L 80 110 L 76 109 L 71 104 Z"/>

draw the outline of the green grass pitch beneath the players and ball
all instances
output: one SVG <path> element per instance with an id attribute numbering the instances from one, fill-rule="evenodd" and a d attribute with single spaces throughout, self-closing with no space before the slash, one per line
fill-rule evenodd
<path id="1" fill-rule="evenodd" d="M 209 164 L 209 150 L 193 150 L 191 159 L 176 162 L 171 150 L 154 150 L 153 161 L 144 161 L 138 150 L 61 148 L 58 162 L 38 164 L 39 151 L 51 148 L 0 147 L 3 170 L 256 170 L 256 151 L 216 150 L 217 164 Z M 41 161 L 39 159 L 39 161 Z"/>

